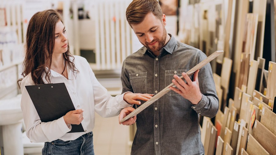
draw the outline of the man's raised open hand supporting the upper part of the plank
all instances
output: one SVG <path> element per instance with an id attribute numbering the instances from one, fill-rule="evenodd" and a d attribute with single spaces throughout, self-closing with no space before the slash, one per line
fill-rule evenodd
<path id="1" fill-rule="evenodd" d="M 183 78 L 186 80 L 185 83 L 179 76 L 174 75 L 175 79 L 172 82 L 175 84 L 175 87 L 169 87 L 171 90 L 179 93 L 182 97 L 189 100 L 192 104 L 196 105 L 202 98 L 202 94 L 200 93 L 199 84 L 198 84 L 198 72 L 197 70 L 193 75 L 193 81 L 189 78 L 186 73 L 182 73 Z"/>

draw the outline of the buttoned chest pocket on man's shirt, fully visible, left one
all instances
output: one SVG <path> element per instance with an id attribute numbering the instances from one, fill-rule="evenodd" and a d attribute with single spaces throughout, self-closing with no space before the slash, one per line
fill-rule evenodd
<path id="1" fill-rule="evenodd" d="M 134 93 L 147 93 L 147 72 L 130 73 L 129 80 Z"/>

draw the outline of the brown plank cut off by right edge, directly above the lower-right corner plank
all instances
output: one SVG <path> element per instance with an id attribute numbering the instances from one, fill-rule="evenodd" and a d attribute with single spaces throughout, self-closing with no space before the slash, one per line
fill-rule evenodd
<path id="1" fill-rule="evenodd" d="M 276 114 L 266 107 L 262 109 L 262 117 L 260 121 L 267 129 L 276 135 Z"/>

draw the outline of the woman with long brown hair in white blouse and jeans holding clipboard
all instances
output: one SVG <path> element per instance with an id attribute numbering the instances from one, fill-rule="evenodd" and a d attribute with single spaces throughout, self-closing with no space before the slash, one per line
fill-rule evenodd
<path id="1" fill-rule="evenodd" d="M 31 142 L 45 142 L 42 154 L 94 154 L 95 111 L 102 117 L 116 116 L 123 108 L 140 104 L 137 100 L 149 100 L 152 95 L 127 92 L 111 97 L 97 81 L 87 60 L 70 54 L 65 31 L 55 10 L 37 12 L 30 19 L 24 78 L 18 80 L 26 134 Z M 77 110 L 52 122 L 41 122 L 25 86 L 44 83 L 65 83 Z M 127 123 L 133 124 L 135 120 L 133 117 Z M 80 123 L 85 132 L 67 133 L 71 124 Z"/>

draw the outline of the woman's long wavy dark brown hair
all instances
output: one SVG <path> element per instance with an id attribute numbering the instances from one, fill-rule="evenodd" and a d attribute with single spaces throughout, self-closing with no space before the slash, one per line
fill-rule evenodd
<path id="1" fill-rule="evenodd" d="M 60 14 L 53 10 L 44 10 L 37 12 L 30 19 L 27 33 L 26 33 L 26 56 L 23 62 L 22 76 L 25 77 L 31 73 L 34 84 L 44 84 L 43 74 L 45 73 L 45 79 L 50 83 L 50 70 L 46 69 L 47 62 L 52 63 L 52 53 L 55 46 L 55 28 L 58 21 L 62 22 Z M 62 22 L 63 23 L 63 22 Z M 79 71 L 74 65 L 74 57 L 68 50 L 63 53 L 65 65 L 69 67 L 75 73 Z M 70 59 L 72 58 L 72 60 Z M 17 81 L 20 88 L 22 79 Z"/>

